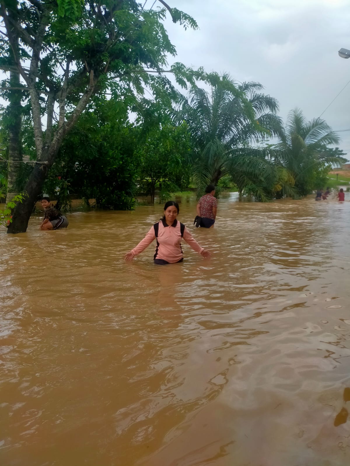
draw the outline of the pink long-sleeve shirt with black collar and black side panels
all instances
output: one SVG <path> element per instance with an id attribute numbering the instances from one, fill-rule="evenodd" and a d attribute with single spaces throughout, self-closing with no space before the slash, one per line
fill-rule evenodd
<path id="1" fill-rule="evenodd" d="M 133 257 L 142 253 L 142 251 L 144 251 L 146 247 L 152 243 L 154 238 L 154 227 L 152 226 L 145 238 L 131 250 Z M 191 233 L 189 233 L 189 230 L 186 228 L 186 226 L 183 232 L 183 239 L 194 251 L 199 254 L 202 253 L 203 247 L 199 246 L 197 241 L 192 237 Z M 173 225 L 168 226 L 165 220 L 161 220 L 159 222 L 157 247 L 155 250 L 154 259 L 163 259 L 167 262 L 178 262 L 181 260 L 183 257 L 181 240 L 180 222 L 175 219 Z"/>

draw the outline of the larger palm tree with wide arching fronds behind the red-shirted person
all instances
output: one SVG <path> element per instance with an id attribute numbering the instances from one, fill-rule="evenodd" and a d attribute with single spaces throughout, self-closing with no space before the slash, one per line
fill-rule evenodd
<path id="1" fill-rule="evenodd" d="M 261 175 L 262 158 L 251 157 L 247 147 L 265 137 L 281 136 L 283 128 L 276 99 L 259 93 L 258 82 L 236 84 L 228 74 L 209 75 L 210 91 L 193 88 L 177 117 L 186 121 L 194 143 L 192 163 L 197 195 L 205 185 L 224 175 L 235 181 L 236 168 L 249 177 Z M 243 164 L 244 162 L 244 164 Z M 243 179 L 240 177 L 240 179 Z"/>

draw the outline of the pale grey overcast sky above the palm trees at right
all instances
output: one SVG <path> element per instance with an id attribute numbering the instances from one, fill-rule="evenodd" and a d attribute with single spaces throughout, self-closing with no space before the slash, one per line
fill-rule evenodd
<path id="1" fill-rule="evenodd" d="M 261 82 L 264 92 L 278 99 L 284 121 L 294 107 L 308 119 L 320 116 L 350 80 L 350 59 L 337 53 L 341 47 L 350 49 L 350 0 L 167 2 L 199 26 L 185 31 L 166 22 L 177 49 L 175 61 L 229 72 L 241 82 Z M 322 115 L 333 130 L 350 129 L 349 103 L 350 84 Z M 350 158 L 350 131 L 339 134 L 339 147 Z"/>

